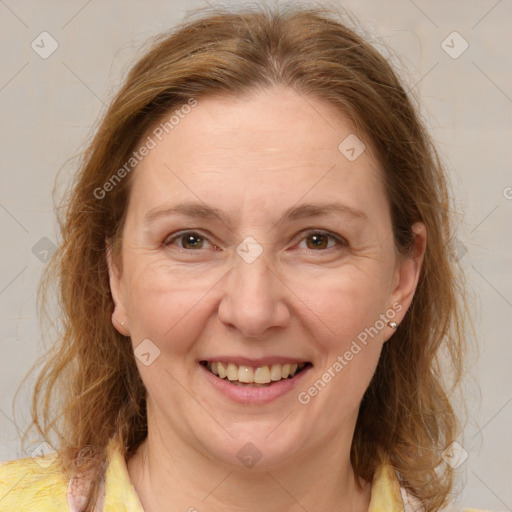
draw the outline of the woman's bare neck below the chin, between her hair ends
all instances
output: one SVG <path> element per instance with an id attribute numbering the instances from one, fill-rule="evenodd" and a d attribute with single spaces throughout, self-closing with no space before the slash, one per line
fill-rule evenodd
<path id="1" fill-rule="evenodd" d="M 128 461 L 128 472 L 145 512 L 367 511 L 371 484 L 356 477 L 350 442 L 340 441 L 281 465 L 245 468 L 156 431 Z"/>

